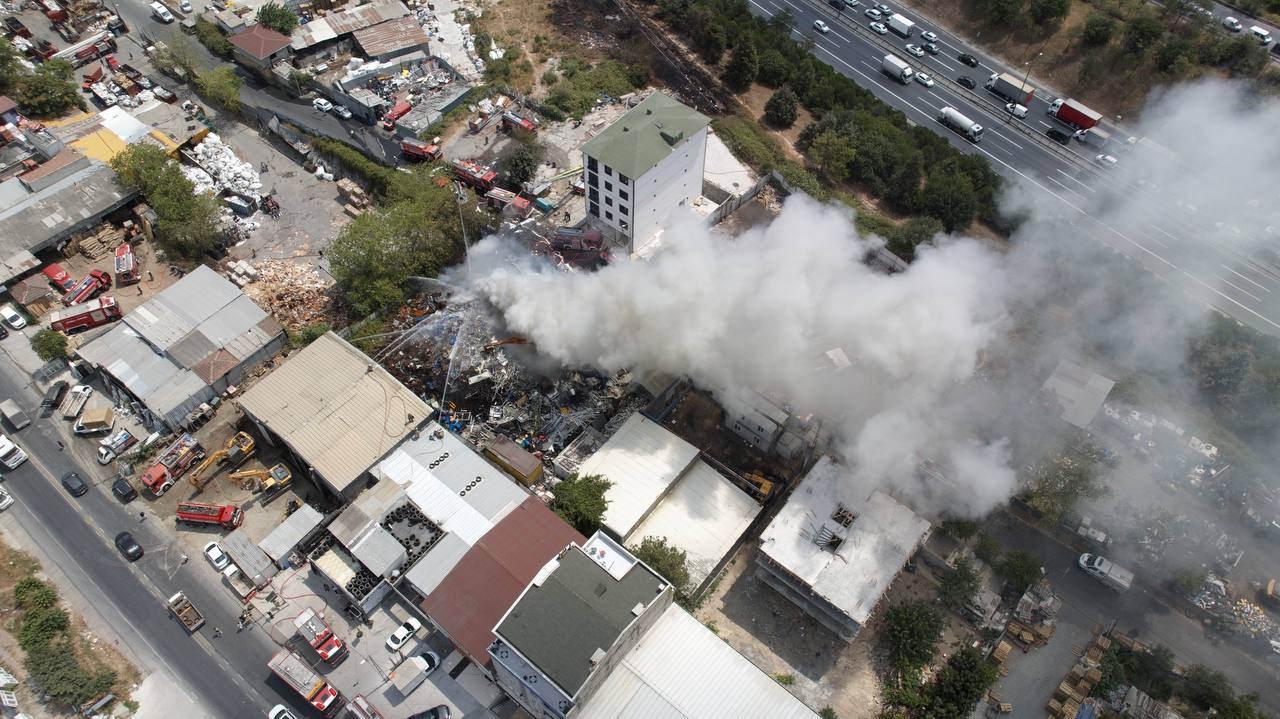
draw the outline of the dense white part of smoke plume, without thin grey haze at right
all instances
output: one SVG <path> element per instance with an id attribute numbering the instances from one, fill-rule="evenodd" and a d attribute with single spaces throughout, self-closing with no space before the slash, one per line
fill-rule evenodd
<path id="1" fill-rule="evenodd" d="M 1012 493 L 1006 443 L 980 438 L 955 404 L 1005 320 L 998 255 L 943 241 L 884 275 L 863 264 L 876 241 L 806 197 L 736 238 L 691 217 L 664 238 L 652 260 L 590 274 L 490 238 L 472 251 L 474 287 L 564 365 L 687 375 L 722 397 L 768 390 L 815 412 L 863 478 L 920 510 L 979 514 Z M 832 349 L 851 367 L 837 371 Z M 924 459 L 952 481 L 918 478 Z"/>

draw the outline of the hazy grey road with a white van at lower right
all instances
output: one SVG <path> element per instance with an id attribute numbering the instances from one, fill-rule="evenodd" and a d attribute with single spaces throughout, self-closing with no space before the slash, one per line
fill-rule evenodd
<path id="1" fill-rule="evenodd" d="M 1134 636 L 1146 644 L 1161 644 L 1174 650 L 1179 664 L 1204 664 L 1224 672 L 1239 692 L 1257 692 L 1270 715 L 1280 713 L 1280 681 L 1276 665 L 1268 665 L 1229 641 L 1219 641 L 1201 624 L 1175 612 L 1134 585 L 1116 594 L 1082 572 L 1078 554 L 1011 514 L 998 513 L 987 531 L 1007 548 L 1019 548 L 1041 558 L 1053 590 L 1064 604 L 1087 617 L 1091 623 Z"/>

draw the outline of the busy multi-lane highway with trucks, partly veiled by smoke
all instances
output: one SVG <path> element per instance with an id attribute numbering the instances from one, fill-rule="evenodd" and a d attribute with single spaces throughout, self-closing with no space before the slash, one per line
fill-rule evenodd
<path id="1" fill-rule="evenodd" d="M 788 10 L 795 18 L 794 37 L 812 41 L 819 59 L 902 111 L 910 122 L 934 129 L 961 152 L 987 157 L 1006 179 L 1042 192 L 1050 205 L 1056 203 L 1061 217 L 1071 224 L 1073 235 L 1101 242 L 1192 298 L 1260 331 L 1280 336 L 1280 292 L 1276 292 L 1280 289 L 1280 267 L 1240 251 L 1240 243 L 1215 239 L 1212 232 L 1203 232 L 1206 225 L 1220 217 L 1211 216 L 1212 209 L 1196 209 L 1190 198 L 1187 202 L 1170 198 L 1158 212 L 1148 210 L 1112 219 L 1115 215 L 1108 206 L 1115 198 L 1137 192 L 1149 194 L 1152 191 L 1149 187 L 1143 189 L 1134 178 L 1107 173 L 1096 162 L 1096 156 L 1112 154 L 1125 162 L 1133 154 L 1155 156 L 1160 152 L 1128 146 L 1124 142 L 1128 133 L 1119 128 L 1110 128 L 1117 139 L 1103 150 L 1075 141 L 1064 147 L 1051 141 L 1044 134 L 1050 128 L 1066 128 L 1046 114 L 1048 102 L 1059 95 L 1036 79 L 1034 65 L 1004 64 L 945 28 L 923 20 L 916 20 L 919 31 L 936 32 L 941 52 L 911 58 L 902 47 L 908 42 L 920 43 L 919 35 L 908 40 L 893 33 L 876 35 L 863 14 L 865 3 L 842 12 L 819 0 L 750 0 L 750 8 L 762 17 Z M 910 17 L 910 13 L 905 14 Z M 817 19 L 827 23 L 829 32 L 814 29 Z M 932 75 L 936 84 L 901 84 L 883 74 L 881 61 L 890 52 Z M 956 59 L 961 52 L 975 56 L 979 65 L 963 65 Z M 1028 69 L 1032 70 L 1029 75 Z M 1005 100 L 983 87 L 988 75 L 1006 72 L 1019 78 L 1028 77 L 1028 82 L 1038 88 L 1025 120 L 1012 119 L 1004 110 Z M 977 90 L 957 84 L 955 81 L 960 77 L 972 78 Z M 955 107 L 983 125 L 982 142 L 972 143 L 938 123 L 943 106 Z M 1201 229 L 1192 229 L 1197 226 Z"/>

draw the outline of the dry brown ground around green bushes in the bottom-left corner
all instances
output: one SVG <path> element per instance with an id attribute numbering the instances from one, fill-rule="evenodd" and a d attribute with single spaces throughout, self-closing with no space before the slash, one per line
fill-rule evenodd
<path id="1" fill-rule="evenodd" d="M 40 563 L 29 554 L 0 540 L 0 667 L 19 679 L 20 683 L 10 688 L 18 695 L 18 704 L 24 714 L 32 719 L 52 719 L 67 714 L 42 705 L 31 686 L 26 683 L 28 677 L 22 663 L 24 654 L 14 636 L 18 631 L 18 613 L 14 609 L 13 587 L 24 577 L 40 574 Z M 141 679 L 138 670 L 114 646 L 90 632 L 83 619 L 76 615 L 65 601 L 61 605 L 72 615 L 70 636 L 76 637 L 76 654 L 82 664 L 93 670 L 115 672 L 116 681 L 111 691 L 116 696 L 129 696 Z"/>

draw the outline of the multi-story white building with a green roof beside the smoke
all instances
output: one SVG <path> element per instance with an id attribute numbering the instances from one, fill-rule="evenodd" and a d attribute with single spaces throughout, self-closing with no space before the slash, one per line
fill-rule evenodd
<path id="1" fill-rule="evenodd" d="M 703 192 L 707 115 L 654 92 L 582 146 L 586 214 L 636 252 Z"/>

